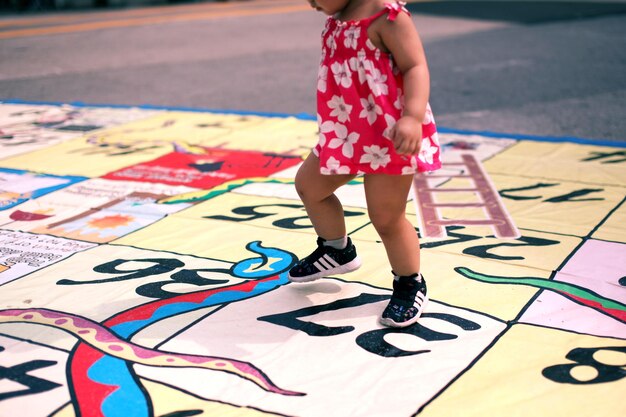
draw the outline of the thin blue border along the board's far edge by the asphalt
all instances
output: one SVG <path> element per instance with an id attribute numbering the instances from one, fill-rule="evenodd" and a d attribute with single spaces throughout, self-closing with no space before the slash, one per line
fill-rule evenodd
<path id="1" fill-rule="evenodd" d="M 137 106 L 126 104 L 91 104 L 83 103 L 81 101 L 73 101 L 69 103 L 54 102 L 54 101 L 28 101 L 20 99 L 0 99 L 0 103 L 6 104 L 32 104 L 32 105 L 49 105 L 49 106 L 61 106 L 71 105 L 74 107 L 108 107 L 117 109 L 144 109 L 144 110 L 163 110 L 163 111 L 185 111 L 193 113 L 219 113 L 219 114 L 237 114 L 242 116 L 261 116 L 261 117 L 295 117 L 300 120 L 317 120 L 316 116 L 308 113 L 270 113 L 270 112 L 257 112 L 257 111 L 245 111 L 245 110 L 220 110 L 220 109 L 208 109 L 199 107 L 172 107 L 172 106 L 155 106 L 151 104 L 141 104 Z M 607 139 L 589 139 L 578 138 L 574 136 L 534 136 L 534 135 L 522 135 L 512 133 L 500 133 L 492 132 L 488 130 L 462 130 L 451 129 L 447 127 L 437 126 L 437 130 L 441 133 L 456 133 L 459 135 L 480 135 L 495 139 L 516 139 L 516 140 L 530 140 L 535 142 L 553 142 L 553 143 L 577 143 L 579 145 L 595 145 L 595 146 L 609 146 L 613 148 L 626 148 L 626 141 L 612 141 Z"/>

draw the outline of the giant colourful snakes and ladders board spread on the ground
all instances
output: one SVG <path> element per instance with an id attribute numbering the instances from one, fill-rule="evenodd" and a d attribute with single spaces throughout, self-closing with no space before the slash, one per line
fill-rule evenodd
<path id="1" fill-rule="evenodd" d="M 287 280 L 314 120 L 13 103 L 0 131 L 1 416 L 626 415 L 623 144 L 440 133 L 407 201 L 431 301 L 390 329 L 358 178 L 364 265 Z"/>

